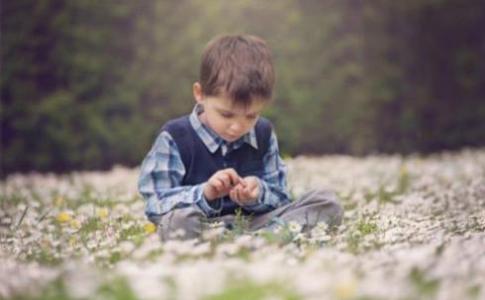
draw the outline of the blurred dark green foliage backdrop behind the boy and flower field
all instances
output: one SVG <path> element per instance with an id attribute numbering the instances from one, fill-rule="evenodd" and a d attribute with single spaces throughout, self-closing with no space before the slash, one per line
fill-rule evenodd
<path id="1" fill-rule="evenodd" d="M 485 1 L 1 1 L 1 169 L 137 166 L 205 44 L 269 43 L 284 155 L 485 145 Z"/>

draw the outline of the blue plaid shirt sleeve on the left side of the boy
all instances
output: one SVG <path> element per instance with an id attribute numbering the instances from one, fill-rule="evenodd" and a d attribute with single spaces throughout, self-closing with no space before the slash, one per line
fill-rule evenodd
<path id="1" fill-rule="evenodd" d="M 166 131 L 157 137 L 141 165 L 138 191 L 145 200 L 145 214 L 151 221 L 169 211 L 198 205 L 211 216 L 220 209 L 209 205 L 203 195 L 203 185 L 182 186 L 185 167 L 177 144 Z"/>

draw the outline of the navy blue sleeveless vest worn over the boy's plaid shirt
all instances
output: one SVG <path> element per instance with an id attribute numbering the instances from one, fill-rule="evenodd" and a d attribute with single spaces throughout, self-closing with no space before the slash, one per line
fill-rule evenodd
<path id="1" fill-rule="evenodd" d="M 182 162 L 185 167 L 185 176 L 182 185 L 196 185 L 206 182 L 215 172 L 225 168 L 233 168 L 241 177 L 262 177 L 264 171 L 263 156 L 268 151 L 271 137 L 271 123 L 265 118 L 259 118 L 255 125 L 258 149 L 248 143 L 240 148 L 222 155 L 221 148 L 211 153 L 204 142 L 192 128 L 189 116 L 167 122 L 162 130 L 167 131 L 177 144 Z M 222 203 L 221 203 L 222 202 Z M 215 208 L 222 205 L 220 215 L 234 214 L 240 207 L 229 197 L 212 202 Z M 247 214 L 247 211 L 242 209 Z"/>

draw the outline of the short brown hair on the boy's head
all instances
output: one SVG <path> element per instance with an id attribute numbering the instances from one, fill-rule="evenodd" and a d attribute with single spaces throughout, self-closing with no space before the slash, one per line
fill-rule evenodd
<path id="1" fill-rule="evenodd" d="M 271 100 L 275 82 L 271 51 L 256 36 L 216 37 L 202 55 L 199 81 L 207 96 L 225 95 L 243 105 L 254 98 Z"/>

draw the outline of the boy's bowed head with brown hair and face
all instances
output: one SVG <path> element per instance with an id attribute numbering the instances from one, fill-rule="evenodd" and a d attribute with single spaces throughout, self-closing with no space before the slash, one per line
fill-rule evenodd
<path id="1" fill-rule="evenodd" d="M 202 122 L 234 141 L 256 124 L 271 100 L 275 75 L 271 51 L 252 35 L 220 36 L 206 46 L 195 100 L 204 107 Z"/>

